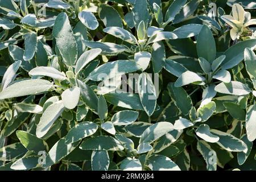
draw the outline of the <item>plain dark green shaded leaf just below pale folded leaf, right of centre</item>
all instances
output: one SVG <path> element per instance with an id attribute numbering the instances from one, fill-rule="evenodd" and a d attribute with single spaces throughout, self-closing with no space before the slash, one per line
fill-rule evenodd
<path id="1" fill-rule="evenodd" d="M 184 115 L 187 115 L 193 106 L 192 100 L 187 92 L 182 87 L 175 87 L 173 83 L 169 83 L 167 89 L 177 108 Z"/>

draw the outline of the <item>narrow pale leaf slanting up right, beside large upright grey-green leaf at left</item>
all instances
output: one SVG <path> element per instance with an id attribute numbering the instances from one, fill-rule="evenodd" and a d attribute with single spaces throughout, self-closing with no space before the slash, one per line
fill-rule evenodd
<path id="1" fill-rule="evenodd" d="M 94 60 L 98 55 L 100 55 L 101 49 L 90 49 L 89 51 L 84 52 L 76 63 L 75 73 L 76 75 L 87 65 L 90 61 Z"/>

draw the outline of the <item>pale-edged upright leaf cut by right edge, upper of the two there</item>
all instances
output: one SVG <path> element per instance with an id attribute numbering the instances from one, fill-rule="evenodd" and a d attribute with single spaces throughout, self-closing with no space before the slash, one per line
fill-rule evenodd
<path id="1" fill-rule="evenodd" d="M 250 78 L 256 79 L 256 55 L 250 48 L 245 49 L 245 65 Z"/>

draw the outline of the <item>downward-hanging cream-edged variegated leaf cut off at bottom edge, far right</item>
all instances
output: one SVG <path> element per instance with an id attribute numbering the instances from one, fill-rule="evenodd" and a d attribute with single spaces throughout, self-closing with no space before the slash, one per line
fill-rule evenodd
<path id="1" fill-rule="evenodd" d="M 209 144 L 203 140 L 199 140 L 197 142 L 197 150 L 203 155 L 205 163 L 207 163 L 207 170 L 208 171 L 216 171 L 217 169 L 217 156 L 216 161 L 212 161 L 214 156 L 210 155 L 213 149 L 209 146 Z M 213 155 L 216 153 L 213 153 Z"/>

